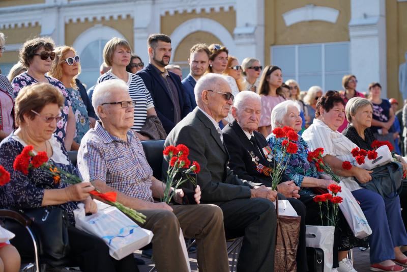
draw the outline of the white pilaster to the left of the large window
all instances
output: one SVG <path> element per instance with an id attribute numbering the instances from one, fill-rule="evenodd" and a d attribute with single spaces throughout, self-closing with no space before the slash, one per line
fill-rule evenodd
<path id="1" fill-rule="evenodd" d="M 236 0 L 236 50 L 231 52 L 240 62 L 246 57 L 264 64 L 264 0 Z"/>

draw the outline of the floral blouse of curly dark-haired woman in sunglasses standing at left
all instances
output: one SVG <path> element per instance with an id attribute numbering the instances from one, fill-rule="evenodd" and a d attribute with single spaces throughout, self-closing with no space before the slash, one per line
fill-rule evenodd
<path id="1" fill-rule="evenodd" d="M 54 134 L 59 137 L 62 141 L 65 139 L 65 134 L 67 131 L 67 123 L 68 123 L 68 113 L 69 113 L 69 106 L 71 105 L 71 100 L 69 98 L 68 92 L 65 89 L 64 84 L 56 78 L 50 77 L 45 75 L 45 78 L 48 79 L 49 84 L 55 86 L 58 90 L 61 91 L 61 93 L 65 97 L 65 105 L 62 109 L 62 119 L 56 124 L 56 130 Z M 17 75 L 14 77 L 13 82 L 12 82 L 12 87 L 14 89 L 14 95 L 17 97 L 18 92 L 24 88 L 25 86 L 32 85 L 34 83 L 38 83 L 38 81 L 27 74 L 27 72 L 24 72 L 20 75 Z"/>

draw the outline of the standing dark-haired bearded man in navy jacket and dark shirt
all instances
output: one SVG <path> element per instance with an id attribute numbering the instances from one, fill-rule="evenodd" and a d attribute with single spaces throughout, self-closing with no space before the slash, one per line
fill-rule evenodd
<path id="1" fill-rule="evenodd" d="M 157 116 L 168 134 L 191 112 L 191 103 L 180 77 L 165 69 L 171 59 L 171 39 L 164 34 L 152 34 L 148 43 L 150 63 L 137 75 L 150 91 Z"/>

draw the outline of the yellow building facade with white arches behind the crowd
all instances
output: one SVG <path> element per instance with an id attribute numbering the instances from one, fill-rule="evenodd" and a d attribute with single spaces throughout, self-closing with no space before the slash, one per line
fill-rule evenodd
<path id="1" fill-rule="evenodd" d="M 297 79 L 303 90 L 339 90 L 342 76 L 352 73 L 359 91 L 379 81 L 385 97 L 400 100 L 407 98 L 399 84 L 407 51 L 405 14 L 405 0 L 3 0 L 6 52 L 0 68 L 7 73 L 18 61 L 25 40 L 51 36 L 57 45 L 77 50 L 80 78 L 90 87 L 107 40 L 128 40 L 147 63 L 148 36 L 164 33 L 172 40 L 171 62 L 184 75 L 193 44 L 220 43 L 240 61 L 254 57 L 263 66 L 281 67 L 284 79 Z"/>

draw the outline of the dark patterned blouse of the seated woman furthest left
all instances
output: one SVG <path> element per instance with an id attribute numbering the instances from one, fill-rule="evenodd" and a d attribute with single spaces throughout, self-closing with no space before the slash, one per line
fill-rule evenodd
<path id="1" fill-rule="evenodd" d="M 79 176 L 77 169 L 68 159 L 62 141 L 55 137 L 49 140 L 52 146 L 53 155 L 49 162 L 62 170 Z M 0 207 L 28 209 L 39 208 L 42 204 L 44 191 L 46 189 L 61 189 L 70 184 L 61 180 L 54 183 L 53 178 L 42 169 L 32 169 L 28 176 L 20 171 L 13 169 L 15 157 L 21 153 L 26 144 L 12 132 L 0 143 L 0 165 L 10 173 L 10 182 L 0 186 Z M 60 205 L 48 206 L 49 208 L 61 208 L 66 211 L 69 222 L 75 225 L 73 210 L 76 209 L 78 202 L 71 201 Z"/>

